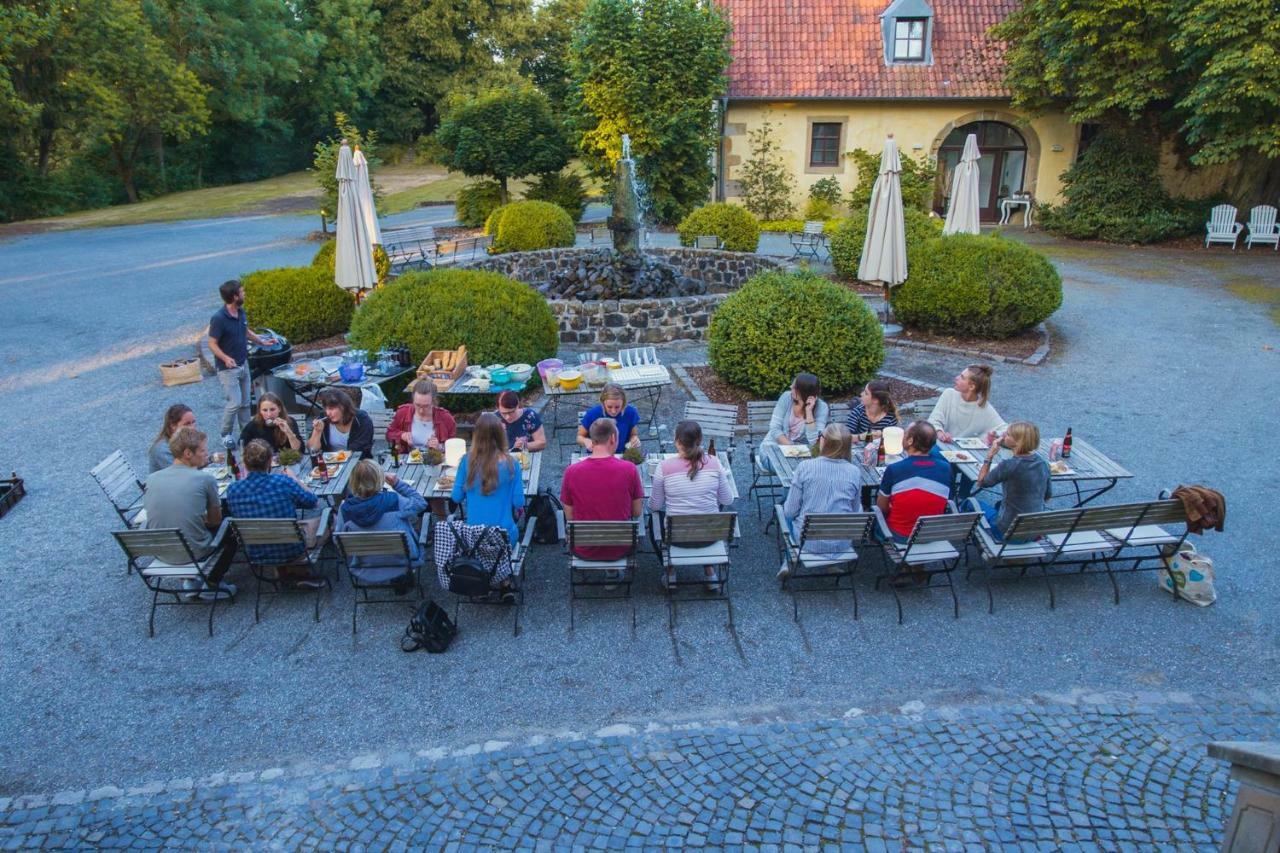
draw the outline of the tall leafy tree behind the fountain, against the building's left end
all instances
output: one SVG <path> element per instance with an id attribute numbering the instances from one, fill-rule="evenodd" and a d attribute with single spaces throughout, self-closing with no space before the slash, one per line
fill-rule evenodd
<path id="1" fill-rule="evenodd" d="M 631 136 L 652 215 L 680 222 L 707 201 L 730 24 L 712 0 L 591 0 L 570 50 L 575 124 L 608 174 Z"/>

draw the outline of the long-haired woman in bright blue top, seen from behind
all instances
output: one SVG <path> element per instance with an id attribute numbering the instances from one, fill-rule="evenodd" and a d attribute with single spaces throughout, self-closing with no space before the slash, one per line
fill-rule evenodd
<path id="1" fill-rule="evenodd" d="M 467 524 L 502 528 L 512 546 L 520 540 L 516 511 L 525 506 L 520 462 L 507 452 L 507 432 L 493 412 L 476 419 L 471 452 L 453 480 L 453 502 L 467 511 Z"/>

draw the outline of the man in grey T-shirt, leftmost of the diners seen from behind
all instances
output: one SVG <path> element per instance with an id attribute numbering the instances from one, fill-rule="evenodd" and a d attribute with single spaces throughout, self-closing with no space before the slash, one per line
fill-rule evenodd
<path id="1" fill-rule="evenodd" d="M 191 546 L 196 560 L 205 560 L 214 546 L 214 532 L 223 523 L 223 507 L 218 501 L 218 480 L 209 471 L 209 439 L 195 426 L 183 426 L 169 439 L 173 465 L 163 467 L 147 478 L 142 505 L 147 511 L 147 529 L 177 528 Z M 184 587 L 201 598 L 232 597 L 236 587 L 221 583 L 232 565 L 236 549 L 223 543 L 214 567 L 206 573 L 210 585 L 201 589 L 198 581 L 188 580 Z"/>

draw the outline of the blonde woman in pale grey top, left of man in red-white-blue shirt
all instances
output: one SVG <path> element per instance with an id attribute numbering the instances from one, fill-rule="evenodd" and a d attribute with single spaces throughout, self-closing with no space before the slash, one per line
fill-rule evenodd
<path id="1" fill-rule="evenodd" d="M 850 461 L 852 435 L 844 424 L 827 424 L 819 439 L 818 456 L 808 459 L 796 466 L 791 478 L 787 502 L 782 505 L 782 515 L 787 520 L 791 535 L 800 538 L 804 519 L 810 514 L 858 512 L 861 507 L 863 478 L 858 466 Z M 805 552 L 835 553 L 847 551 L 849 546 L 833 540 L 805 543 Z M 787 562 L 778 570 L 778 580 L 786 580 L 791 574 Z"/>

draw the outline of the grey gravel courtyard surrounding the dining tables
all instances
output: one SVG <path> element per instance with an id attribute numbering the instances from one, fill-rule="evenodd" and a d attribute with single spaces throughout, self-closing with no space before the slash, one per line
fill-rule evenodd
<path id="1" fill-rule="evenodd" d="M 9 307 L 0 470 L 19 470 L 31 492 L 0 520 L 0 797 L 940 692 L 993 704 L 1075 688 L 1274 684 L 1280 533 L 1268 514 L 1280 492 L 1271 447 L 1280 353 L 1263 347 L 1280 347 L 1280 329 L 1265 306 L 1225 291 L 1239 277 L 1275 287 L 1270 252 L 1050 246 L 1066 278 L 1055 352 L 1039 368 L 996 374 L 1006 418 L 1071 425 L 1137 474 L 1116 500 L 1178 482 L 1228 493 L 1228 533 L 1202 542 L 1220 566 L 1221 599 L 1211 608 L 1174 605 L 1144 576 L 1123 581 L 1119 607 L 1110 584 L 1091 579 L 1062 584 L 1056 611 L 1036 585 L 1009 588 L 988 616 L 983 589 L 961 584 L 959 620 L 938 593 L 910 598 L 899 626 L 891 597 L 864 581 L 859 621 L 847 598 L 813 596 L 797 624 L 773 579 L 773 539 L 744 501 L 736 635 L 712 603 L 682 607 L 668 631 L 652 569 L 636 590 L 635 638 L 625 607 L 608 605 L 582 608 L 568 634 L 563 558 L 540 547 L 527 564 L 518 639 L 503 615 L 472 610 L 448 654 L 406 656 L 397 649 L 406 613 L 396 608 L 364 613 L 352 639 L 346 588 L 320 624 L 310 603 L 283 599 L 255 625 L 242 601 L 211 640 L 195 608 L 161 613 L 148 639 L 145 590 L 124 575 L 109 535 L 115 517 L 87 471 L 116 448 L 141 469 L 173 401 L 191 403 L 206 428 L 218 423 L 215 382 L 165 389 L 156 365 L 189 351 L 219 282 L 306 261 L 311 227 L 257 218 L 0 243 Z M 942 384 L 960 366 L 905 350 L 886 365 Z M 667 423 L 678 405 L 667 397 Z M 736 470 L 746 482 L 745 457 Z"/>

